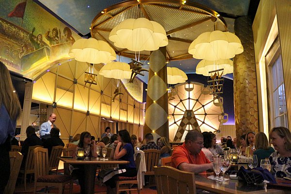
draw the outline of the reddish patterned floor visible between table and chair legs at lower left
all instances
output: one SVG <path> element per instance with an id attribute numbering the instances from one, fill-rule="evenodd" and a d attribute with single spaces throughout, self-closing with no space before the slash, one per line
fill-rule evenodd
<path id="1" fill-rule="evenodd" d="M 33 187 L 34 187 L 34 183 L 30 183 L 28 181 L 27 186 L 26 186 L 26 191 L 24 191 L 24 184 L 23 183 L 16 183 L 16 190 L 15 193 L 16 194 L 33 194 Z M 68 188 L 68 186 L 66 186 L 66 188 Z M 152 187 L 151 187 L 152 188 Z M 144 188 L 143 190 L 141 190 L 141 194 L 157 194 L 157 191 L 151 188 Z M 40 187 L 38 187 L 38 191 L 42 190 Z M 53 189 L 53 188 L 49 188 L 49 193 L 56 193 L 57 190 Z M 68 194 L 69 190 L 65 189 L 64 194 Z M 73 194 L 80 194 L 80 186 L 78 185 L 77 182 L 74 182 L 74 186 L 73 186 Z M 104 186 L 99 186 L 96 184 L 95 186 L 95 194 L 106 194 L 106 187 Z M 128 192 L 129 194 L 129 192 Z M 131 194 L 137 194 L 137 191 L 132 191 Z"/>

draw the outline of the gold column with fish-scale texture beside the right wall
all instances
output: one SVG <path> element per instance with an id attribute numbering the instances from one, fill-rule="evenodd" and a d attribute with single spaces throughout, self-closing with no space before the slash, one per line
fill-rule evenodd
<path id="1" fill-rule="evenodd" d="M 243 46 L 242 54 L 233 58 L 233 96 L 236 136 L 259 131 L 257 76 L 252 20 L 242 16 L 235 20 L 234 32 Z"/>

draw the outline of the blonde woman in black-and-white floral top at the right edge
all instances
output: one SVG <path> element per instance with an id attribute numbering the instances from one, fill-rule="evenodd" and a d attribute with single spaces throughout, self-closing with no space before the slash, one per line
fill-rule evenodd
<path id="1" fill-rule="evenodd" d="M 271 154 L 269 160 L 272 165 L 272 173 L 276 177 L 291 178 L 291 132 L 285 127 L 273 128 L 269 133 L 271 144 L 275 152 Z"/>

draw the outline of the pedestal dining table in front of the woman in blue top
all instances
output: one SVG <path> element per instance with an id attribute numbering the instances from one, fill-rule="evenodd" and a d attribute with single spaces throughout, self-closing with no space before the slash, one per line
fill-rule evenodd
<path id="1" fill-rule="evenodd" d="M 85 194 L 94 194 L 95 188 L 95 178 L 96 178 L 96 171 L 97 167 L 100 164 L 127 164 L 129 161 L 122 161 L 122 160 L 114 160 L 110 158 L 106 158 L 102 160 L 100 158 L 89 157 L 88 159 L 78 160 L 77 158 L 65 158 L 65 157 L 58 157 L 60 161 L 66 164 L 78 164 L 84 165 L 84 175 L 86 177 L 85 181 Z"/>

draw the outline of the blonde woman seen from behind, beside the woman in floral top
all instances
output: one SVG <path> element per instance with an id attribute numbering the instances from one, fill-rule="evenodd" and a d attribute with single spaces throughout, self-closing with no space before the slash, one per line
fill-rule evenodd
<path id="1" fill-rule="evenodd" d="M 254 155 L 257 155 L 258 158 L 258 167 L 260 166 L 260 161 L 275 152 L 273 147 L 269 146 L 268 138 L 263 132 L 258 132 L 255 135 L 255 148 Z"/>

